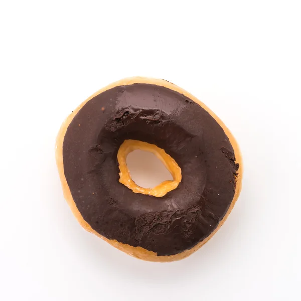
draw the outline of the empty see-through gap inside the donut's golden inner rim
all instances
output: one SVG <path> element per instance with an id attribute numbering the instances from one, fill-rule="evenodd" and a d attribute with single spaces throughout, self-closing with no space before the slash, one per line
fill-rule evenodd
<path id="1" fill-rule="evenodd" d="M 126 165 L 131 179 L 143 188 L 154 188 L 164 181 L 172 181 L 173 176 L 156 155 L 135 149 L 126 157 Z"/>

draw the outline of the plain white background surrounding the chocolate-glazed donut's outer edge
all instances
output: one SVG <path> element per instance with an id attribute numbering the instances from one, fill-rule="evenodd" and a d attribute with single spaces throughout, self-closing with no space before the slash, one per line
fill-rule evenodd
<path id="1" fill-rule="evenodd" d="M 1 1 L 0 299 L 300 300 L 299 1 Z M 54 145 L 128 76 L 164 78 L 237 138 L 243 189 L 189 258 L 132 258 L 85 232 Z"/>

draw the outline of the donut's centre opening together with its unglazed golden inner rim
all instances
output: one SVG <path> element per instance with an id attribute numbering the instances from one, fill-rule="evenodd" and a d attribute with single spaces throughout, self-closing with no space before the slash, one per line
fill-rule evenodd
<path id="1" fill-rule="evenodd" d="M 119 182 L 134 193 L 163 197 L 182 180 L 181 168 L 163 148 L 139 140 L 124 140 L 117 153 Z"/>

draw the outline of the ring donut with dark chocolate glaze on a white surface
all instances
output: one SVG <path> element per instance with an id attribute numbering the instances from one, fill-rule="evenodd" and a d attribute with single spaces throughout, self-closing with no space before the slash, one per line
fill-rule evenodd
<path id="1" fill-rule="evenodd" d="M 132 181 L 126 156 L 155 154 L 173 180 Z M 56 161 L 81 226 L 136 258 L 170 262 L 204 245 L 241 190 L 237 142 L 201 101 L 163 79 L 126 78 L 99 90 L 63 122 Z"/>

